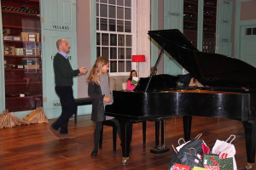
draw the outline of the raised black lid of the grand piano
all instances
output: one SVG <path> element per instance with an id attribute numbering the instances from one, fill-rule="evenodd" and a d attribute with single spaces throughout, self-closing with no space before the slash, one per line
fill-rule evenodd
<path id="1" fill-rule="evenodd" d="M 256 88 L 256 68 L 240 59 L 203 53 L 177 29 L 148 31 L 148 35 L 204 86 Z"/>

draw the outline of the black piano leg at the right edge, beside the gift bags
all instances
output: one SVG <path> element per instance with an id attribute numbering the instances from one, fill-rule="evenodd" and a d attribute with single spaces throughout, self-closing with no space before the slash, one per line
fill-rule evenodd
<path id="1" fill-rule="evenodd" d="M 245 132 L 247 148 L 247 166 L 246 169 L 253 169 L 256 149 L 256 121 L 242 122 Z"/>

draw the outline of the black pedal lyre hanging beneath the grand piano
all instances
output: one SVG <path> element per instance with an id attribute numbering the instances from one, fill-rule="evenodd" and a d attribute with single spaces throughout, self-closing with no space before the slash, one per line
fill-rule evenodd
<path id="1" fill-rule="evenodd" d="M 159 144 L 159 134 L 160 134 L 160 122 L 161 122 L 161 145 Z M 170 148 L 165 145 L 165 120 L 155 121 L 155 146 L 150 150 L 150 153 L 163 154 L 170 150 Z"/>

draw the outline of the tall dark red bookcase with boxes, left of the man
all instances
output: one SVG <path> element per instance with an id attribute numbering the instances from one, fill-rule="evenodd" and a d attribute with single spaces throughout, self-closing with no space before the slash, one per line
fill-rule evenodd
<path id="1" fill-rule="evenodd" d="M 5 108 L 29 111 L 42 102 L 39 0 L 1 0 Z"/>

